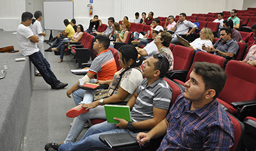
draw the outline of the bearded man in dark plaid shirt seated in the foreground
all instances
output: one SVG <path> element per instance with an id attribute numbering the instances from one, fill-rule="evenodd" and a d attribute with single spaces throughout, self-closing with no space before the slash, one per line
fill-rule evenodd
<path id="1" fill-rule="evenodd" d="M 226 79 L 219 65 L 195 62 L 185 92 L 154 129 L 137 135 L 138 143 L 165 135 L 157 150 L 229 150 L 234 126 L 216 100 Z"/>

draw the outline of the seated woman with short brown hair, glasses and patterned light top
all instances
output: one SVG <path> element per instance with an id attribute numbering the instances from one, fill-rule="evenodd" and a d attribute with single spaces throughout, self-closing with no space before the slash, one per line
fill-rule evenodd
<path id="1" fill-rule="evenodd" d="M 173 70 L 173 54 L 169 48 L 169 45 L 172 41 L 172 35 L 167 31 L 160 30 L 159 33 L 156 35 L 155 44 L 157 46 L 158 52 L 156 54 L 163 54 L 166 56 L 170 63 L 170 68 L 168 71 Z"/>

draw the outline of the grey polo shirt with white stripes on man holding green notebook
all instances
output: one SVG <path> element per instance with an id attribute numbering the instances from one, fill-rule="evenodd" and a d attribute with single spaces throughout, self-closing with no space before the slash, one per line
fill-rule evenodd
<path id="1" fill-rule="evenodd" d="M 153 107 L 169 109 L 172 100 L 172 89 L 166 81 L 159 78 L 149 86 L 147 85 L 148 81 L 145 78 L 136 91 L 138 97 L 131 111 L 131 118 L 134 122 L 153 118 Z"/>

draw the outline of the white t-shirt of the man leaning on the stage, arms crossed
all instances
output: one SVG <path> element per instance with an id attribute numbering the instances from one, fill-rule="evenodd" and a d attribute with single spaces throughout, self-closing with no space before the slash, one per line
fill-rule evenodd
<path id="1" fill-rule="evenodd" d="M 33 31 L 28 26 L 24 26 L 24 24 L 20 24 L 18 26 L 17 39 L 23 56 L 30 56 L 31 54 L 39 51 L 38 47 L 36 47 L 36 43 L 29 39 L 29 37 L 33 35 Z"/>

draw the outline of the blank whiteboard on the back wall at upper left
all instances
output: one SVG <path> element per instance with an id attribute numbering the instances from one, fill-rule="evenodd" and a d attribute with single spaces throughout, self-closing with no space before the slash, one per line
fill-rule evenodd
<path id="1" fill-rule="evenodd" d="M 44 28 L 51 30 L 63 30 L 66 26 L 64 19 L 74 18 L 73 1 L 44 1 Z"/>

